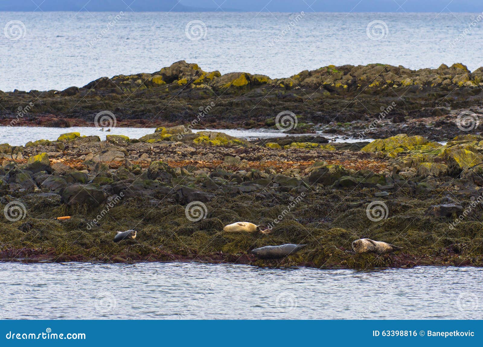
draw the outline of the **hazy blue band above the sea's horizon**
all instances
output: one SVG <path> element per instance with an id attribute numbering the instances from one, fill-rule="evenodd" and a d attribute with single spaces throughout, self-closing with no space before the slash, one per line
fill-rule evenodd
<path id="1" fill-rule="evenodd" d="M 0 11 L 471 12 L 482 0 L 0 0 Z"/>

